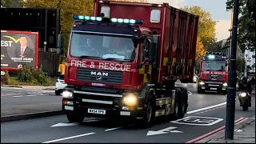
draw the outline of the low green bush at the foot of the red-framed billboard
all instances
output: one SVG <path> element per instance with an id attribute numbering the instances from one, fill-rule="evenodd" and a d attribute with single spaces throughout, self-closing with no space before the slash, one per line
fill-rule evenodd
<path id="1" fill-rule="evenodd" d="M 38 70 L 34 70 L 32 66 L 23 65 L 18 70 L 18 82 L 27 83 L 31 85 L 54 85 L 54 79 L 50 78 L 46 72 L 42 70 L 42 66 Z"/>

